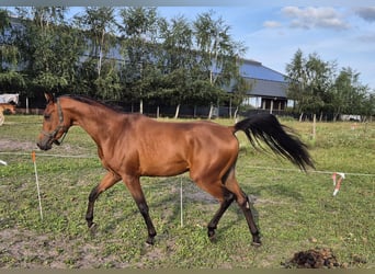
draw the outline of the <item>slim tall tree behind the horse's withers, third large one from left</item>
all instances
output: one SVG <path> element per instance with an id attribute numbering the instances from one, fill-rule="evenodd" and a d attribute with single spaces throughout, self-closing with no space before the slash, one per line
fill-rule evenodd
<path id="1" fill-rule="evenodd" d="M 118 30 L 123 35 L 123 85 L 132 100 L 139 100 L 143 113 L 144 99 L 151 98 L 157 90 L 155 77 L 160 76 L 156 66 L 160 46 L 158 36 L 160 18 L 156 8 L 125 8 L 120 11 Z"/>

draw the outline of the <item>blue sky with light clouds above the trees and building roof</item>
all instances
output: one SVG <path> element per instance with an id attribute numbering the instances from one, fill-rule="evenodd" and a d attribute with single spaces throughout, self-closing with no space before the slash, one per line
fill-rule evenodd
<path id="1" fill-rule="evenodd" d="M 209 9 L 231 26 L 236 41 L 245 43 L 248 47 L 245 57 L 248 59 L 285 72 L 286 64 L 300 48 L 305 56 L 316 53 L 325 61 L 337 61 L 339 69 L 351 67 L 361 73 L 363 84 L 375 90 L 375 1 L 373 7 L 254 4 L 158 8 L 162 16 L 184 14 L 191 20 Z"/>

